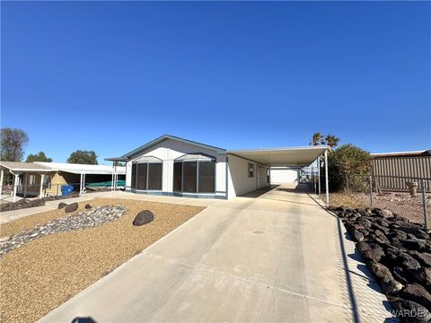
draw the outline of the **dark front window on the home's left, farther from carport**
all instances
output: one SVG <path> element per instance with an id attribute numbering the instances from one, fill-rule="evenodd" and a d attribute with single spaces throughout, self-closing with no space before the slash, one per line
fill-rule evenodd
<path id="1" fill-rule="evenodd" d="M 162 170 L 162 162 L 133 163 L 130 187 L 142 190 L 161 190 Z"/>

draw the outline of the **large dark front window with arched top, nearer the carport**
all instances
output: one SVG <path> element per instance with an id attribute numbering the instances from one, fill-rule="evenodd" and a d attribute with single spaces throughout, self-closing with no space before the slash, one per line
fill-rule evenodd
<path id="1" fill-rule="evenodd" d="M 201 153 L 189 153 L 175 160 L 173 163 L 173 191 L 215 193 L 215 158 Z"/>

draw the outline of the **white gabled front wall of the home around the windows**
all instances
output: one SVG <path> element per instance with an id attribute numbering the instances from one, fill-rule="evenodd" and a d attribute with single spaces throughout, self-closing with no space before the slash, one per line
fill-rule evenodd
<path id="1" fill-rule="evenodd" d="M 136 154 L 127 163 L 126 187 L 130 188 L 132 177 L 132 162 L 143 156 L 153 156 L 163 161 L 162 191 L 172 193 L 173 189 L 173 161 L 185 153 L 206 153 L 216 157 L 216 193 L 224 195 L 226 191 L 226 157 L 215 151 L 200 148 L 193 144 L 185 144 L 172 139 L 166 139 L 160 144 L 155 144 L 148 150 Z"/>

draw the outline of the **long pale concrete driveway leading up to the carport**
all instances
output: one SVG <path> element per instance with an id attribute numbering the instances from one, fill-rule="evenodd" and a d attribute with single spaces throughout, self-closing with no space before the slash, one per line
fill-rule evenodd
<path id="1" fill-rule="evenodd" d="M 338 220 L 279 187 L 208 206 L 41 321 L 383 322 L 385 307 Z"/>

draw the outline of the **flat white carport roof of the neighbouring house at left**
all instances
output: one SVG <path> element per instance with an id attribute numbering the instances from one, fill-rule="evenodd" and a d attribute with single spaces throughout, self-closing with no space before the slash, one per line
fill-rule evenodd
<path id="1" fill-rule="evenodd" d="M 106 165 L 87 165 L 75 164 L 69 162 L 34 162 L 44 167 L 48 167 L 52 171 L 65 171 L 73 174 L 97 174 L 107 175 L 112 174 L 112 166 Z M 126 174 L 126 167 L 117 166 L 116 173 Z"/>

